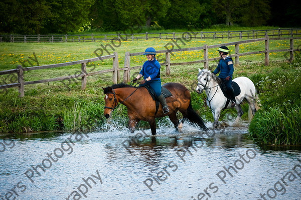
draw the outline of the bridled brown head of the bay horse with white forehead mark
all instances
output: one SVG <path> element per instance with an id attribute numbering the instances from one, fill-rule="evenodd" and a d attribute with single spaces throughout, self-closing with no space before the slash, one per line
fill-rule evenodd
<path id="1" fill-rule="evenodd" d="M 104 96 L 104 116 L 109 118 L 111 116 L 111 112 L 117 107 L 118 99 L 116 98 L 115 91 L 112 87 L 102 87 Z"/>

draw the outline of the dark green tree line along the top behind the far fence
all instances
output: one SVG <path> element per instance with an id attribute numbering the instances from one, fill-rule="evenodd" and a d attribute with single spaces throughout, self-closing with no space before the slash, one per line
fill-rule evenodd
<path id="1" fill-rule="evenodd" d="M 0 32 L 207 28 L 214 24 L 297 27 L 297 0 L 2 0 Z"/>

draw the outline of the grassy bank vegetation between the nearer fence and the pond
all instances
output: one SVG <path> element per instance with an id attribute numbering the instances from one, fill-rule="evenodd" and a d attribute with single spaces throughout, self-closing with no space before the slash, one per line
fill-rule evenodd
<path id="1" fill-rule="evenodd" d="M 250 123 L 251 137 L 264 144 L 301 143 L 301 58 L 295 53 L 292 63 L 286 60 L 263 62 L 242 62 L 236 66 L 235 77 L 248 76 L 259 93 L 261 109 Z M 213 121 L 210 109 L 205 105 L 204 96 L 194 91 L 197 68 L 200 64 L 183 65 L 173 70 L 171 75 L 162 73 L 163 83 L 181 82 L 192 92 L 192 105 L 206 120 Z M 210 66 L 213 69 L 215 64 Z M 165 66 L 162 66 L 165 70 Z M 41 74 L 38 74 L 41 75 Z M 103 116 L 102 86 L 111 85 L 109 76 L 89 81 L 88 87 L 81 90 L 80 81 L 70 82 L 68 87 L 61 83 L 43 83 L 26 87 L 25 97 L 18 97 L 18 89 L 9 88 L 0 93 L 0 132 L 32 132 L 48 130 L 91 131 L 103 127 L 108 120 Z M 247 120 L 247 103 L 242 108 Z M 223 111 L 220 120 L 226 115 L 236 116 L 236 110 Z M 121 105 L 114 110 L 113 120 L 119 125 L 127 125 L 126 107 Z M 179 115 L 179 117 L 181 117 Z M 112 119 L 109 119 L 109 122 Z M 168 118 L 159 119 L 162 124 L 170 124 Z M 148 127 L 139 122 L 138 127 Z"/>

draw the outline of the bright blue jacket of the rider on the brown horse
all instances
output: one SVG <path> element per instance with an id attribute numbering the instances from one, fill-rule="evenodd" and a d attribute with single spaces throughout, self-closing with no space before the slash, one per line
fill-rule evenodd
<path id="1" fill-rule="evenodd" d="M 149 76 L 151 78 L 150 81 L 157 80 L 160 79 L 160 68 L 159 61 L 154 58 L 152 61 L 146 60 L 139 73 L 144 76 L 144 79 Z"/>

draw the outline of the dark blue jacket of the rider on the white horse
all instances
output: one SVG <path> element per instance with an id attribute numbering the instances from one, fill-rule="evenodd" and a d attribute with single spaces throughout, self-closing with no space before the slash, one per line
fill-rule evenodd
<path id="1" fill-rule="evenodd" d="M 234 67 L 233 67 L 233 60 L 230 56 L 227 56 L 225 59 L 221 58 L 216 69 L 213 71 L 214 74 L 220 72 L 218 77 L 225 78 L 230 76 L 232 78 Z"/>

